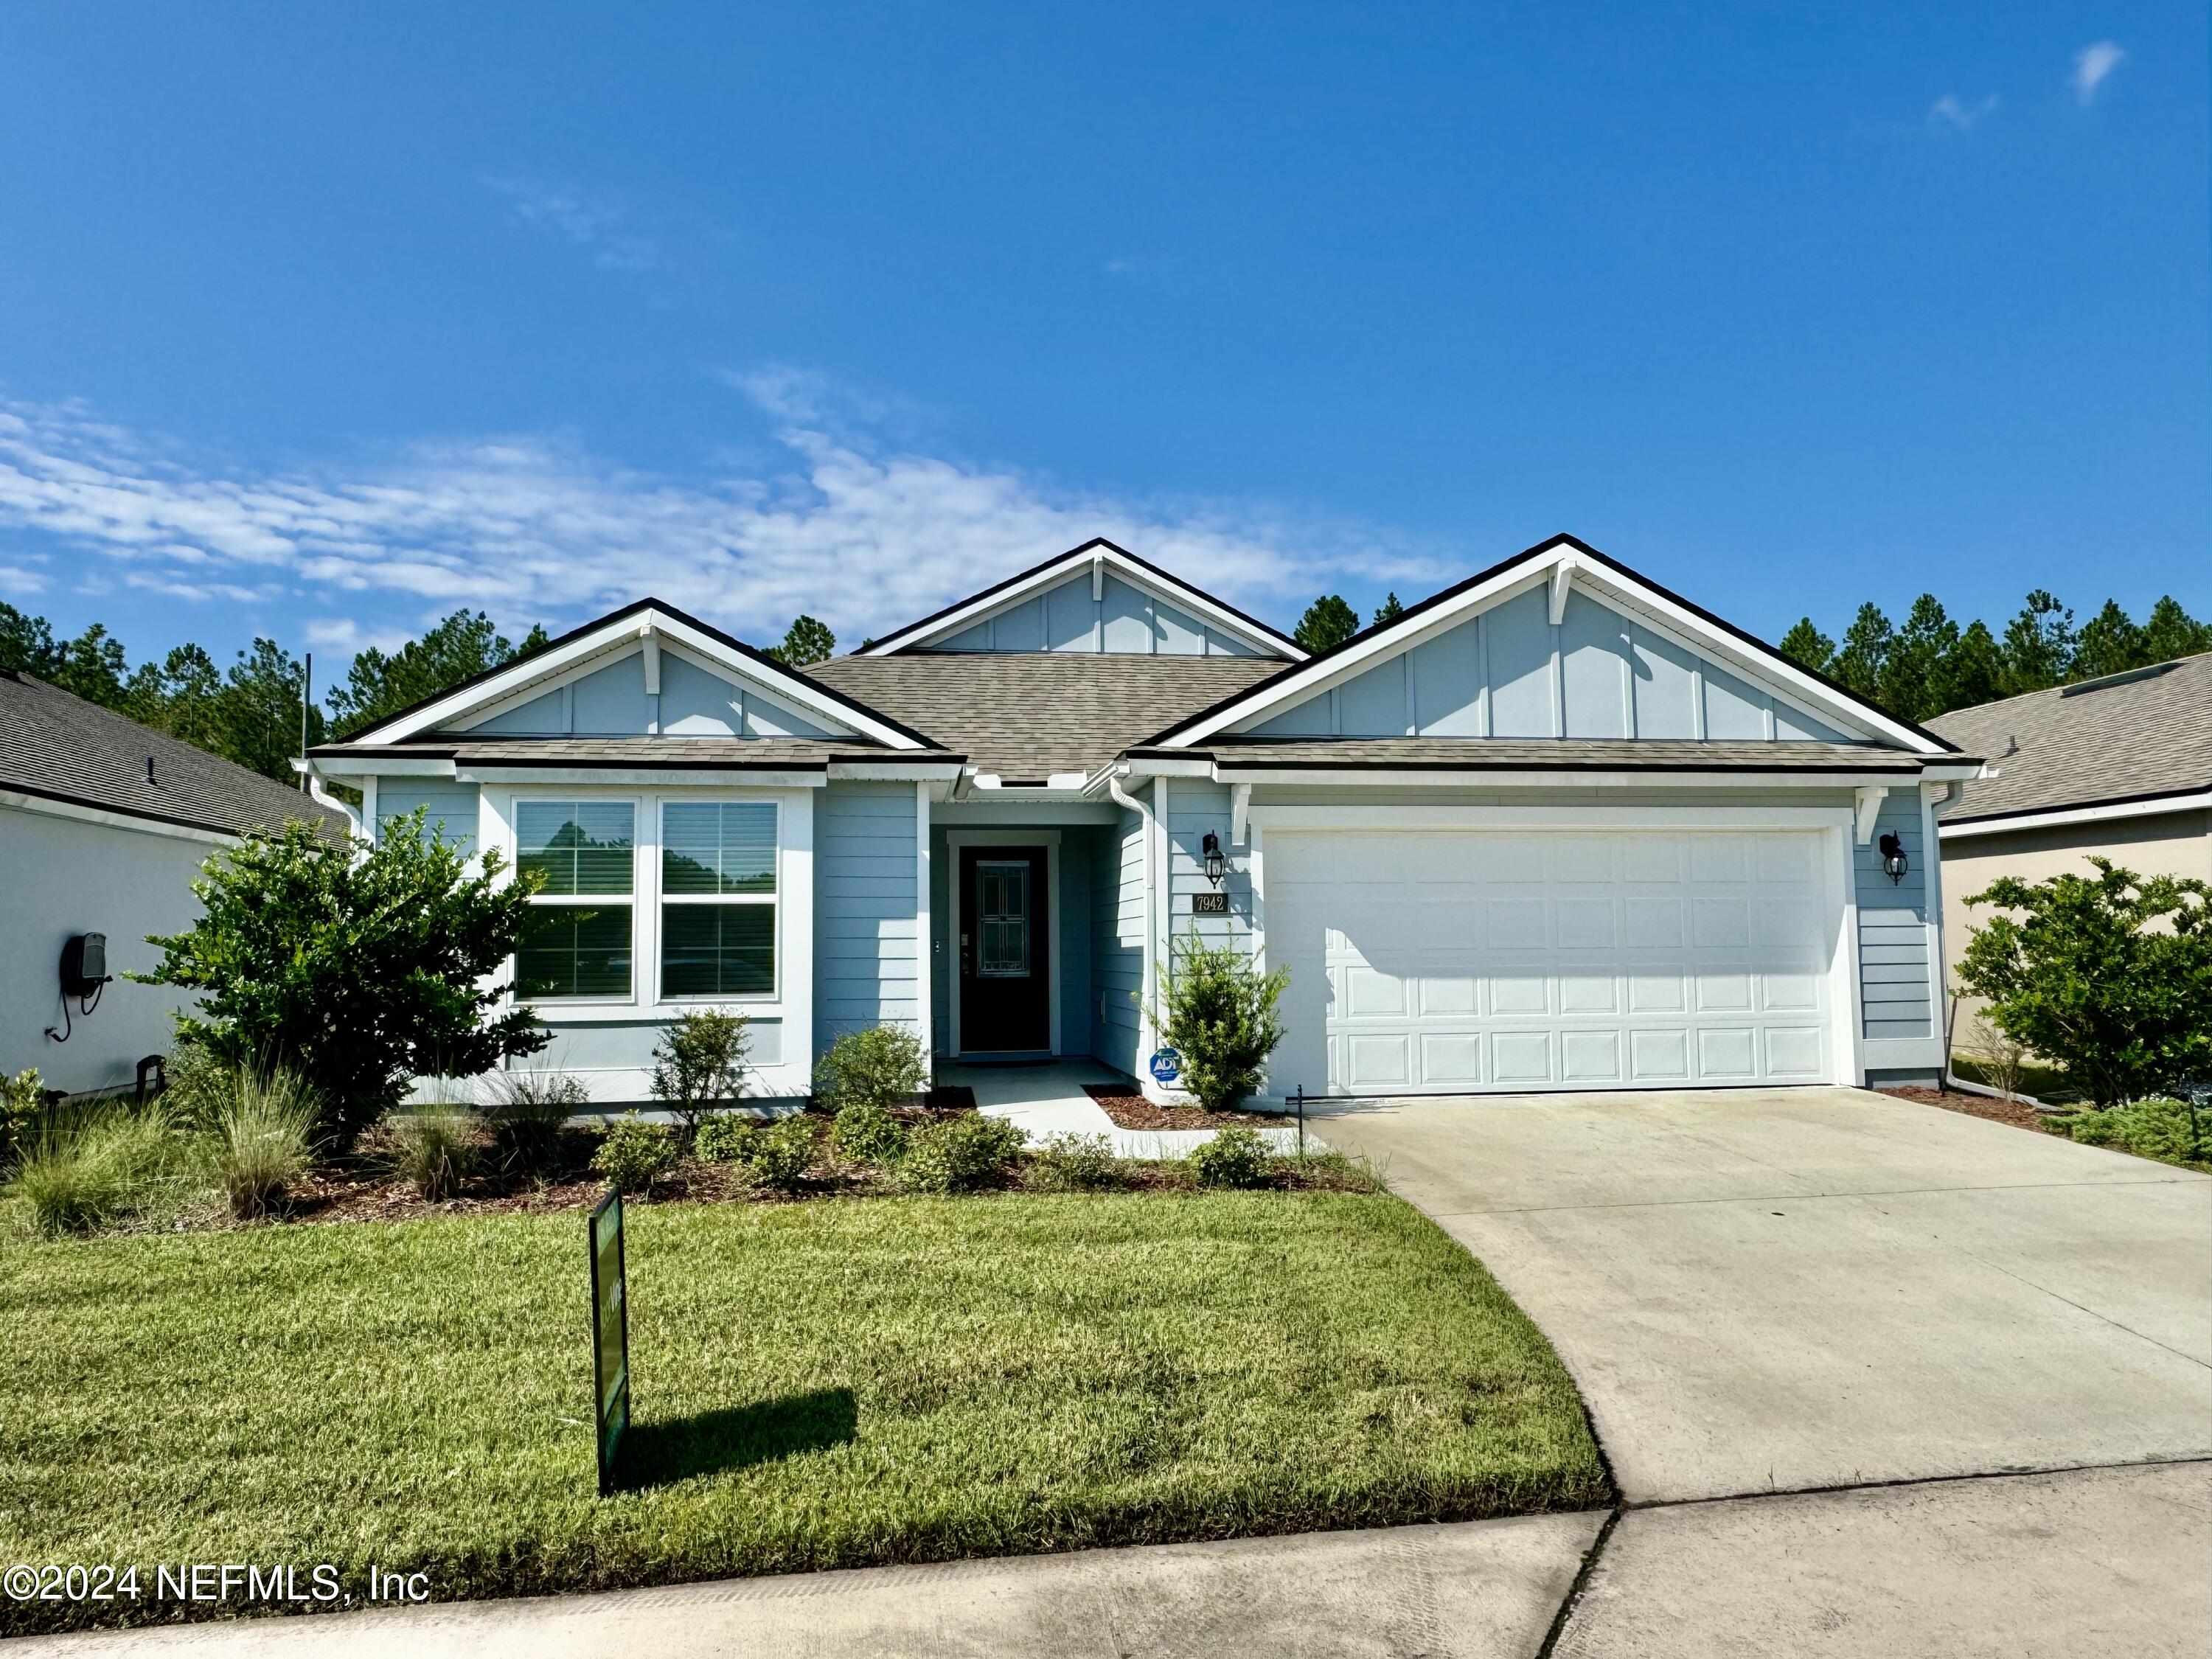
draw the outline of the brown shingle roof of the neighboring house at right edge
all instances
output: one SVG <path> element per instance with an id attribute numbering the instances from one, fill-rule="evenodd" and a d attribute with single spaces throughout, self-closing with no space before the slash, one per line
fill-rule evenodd
<path id="1" fill-rule="evenodd" d="M 1929 730 L 1986 754 L 1944 823 L 2212 787 L 2212 653 L 2157 675 L 2062 686 L 1938 714 Z"/>

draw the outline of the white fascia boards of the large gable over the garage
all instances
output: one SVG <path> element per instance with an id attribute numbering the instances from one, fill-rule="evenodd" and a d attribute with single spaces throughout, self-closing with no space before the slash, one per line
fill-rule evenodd
<path id="1" fill-rule="evenodd" d="M 1652 588 L 1646 588 L 1610 566 L 1586 560 L 1568 542 L 1555 542 L 1542 553 L 1500 571 L 1489 582 L 1480 582 L 1464 593 L 1455 593 L 1433 611 L 1422 611 L 1405 624 L 1385 628 L 1352 650 L 1338 653 L 1329 659 L 1323 672 L 1285 675 L 1267 686 L 1261 686 L 1250 697 L 1210 714 L 1203 723 L 1192 726 L 1188 732 L 1179 732 L 1168 739 L 1166 748 L 1192 748 L 1223 730 L 1245 730 L 1261 723 L 1287 703 L 1303 703 L 1310 697 L 1340 686 L 1374 664 L 1413 650 L 1413 646 L 1455 628 L 1478 611 L 1489 611 L 1535 586 L 1548 588 L 1551 599 L 1557 606 L 1564 606 L 1566 586 L 1579 586 L 1590 597 L 1601 597 L 1601 602 L 1613 608 L 1621 608 L 1626 604 L 1637 613 L 1639 622 L 1652 624 L 1655 633 L 1661 637 L 1686 650 L 1728 664 L 1732 670 L 1741 672 L 1743 679 L 1781 697 L 1801 714 L 1809 714 L 1825 726 L 1840 726 L 1847 732 L 1878 737 L 1882 741 L 1898 743 L 1913 754 L 1944 754 L 1940 743 L 1933 743 L 1911 728 L 1863 708 L 1851 699 L 1838 697 L 1818 679 L 1796 668 L 1787 657 L 1770 657 L 1765 653 L 1750 650 L 1734 635 L 1714 628 L 1694 611 L 1686 611 L 1672 599 L 1661 597 Z"/>

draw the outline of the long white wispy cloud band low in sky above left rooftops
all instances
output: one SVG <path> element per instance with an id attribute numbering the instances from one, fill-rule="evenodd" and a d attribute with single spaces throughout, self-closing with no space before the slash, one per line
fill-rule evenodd
<path id="1" fill-rule="evenodd" d="M 549 436 L 257 473 L 77 405 L 0 400 L 0 531 L 97 553 L 93 580 L 327 608 L 332 646 L 456 606 L 564 626 L 648 593 L 748 639 L 805 611 L 856 641 L 1091 535 L 1267 613 L 1347 577 L 1451 573 L 1438 549 L 1360 526 L 1243 502 L 1121 502 L 894 449 L 803 418 L 825 389 L 790 372 L 768 372 L 754 396 L 779 420 L 770 465 L 697 478 Z"/>

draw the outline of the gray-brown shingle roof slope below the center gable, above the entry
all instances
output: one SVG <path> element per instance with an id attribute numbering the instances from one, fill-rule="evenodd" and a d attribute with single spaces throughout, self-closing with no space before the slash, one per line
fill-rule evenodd
<path id="1" fill-rule="evenodd" d="M 911 653 L 807 672 L 1009 783 L 1097 772 L 1130 743 L 1279 675 L 1274 657 Z"/>

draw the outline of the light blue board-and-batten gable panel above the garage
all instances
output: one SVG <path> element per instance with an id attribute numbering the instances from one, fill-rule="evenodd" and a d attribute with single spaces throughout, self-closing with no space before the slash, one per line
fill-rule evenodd
<path id="1" fill-rule="evenodd" d="M 1595 737 L 1847 743 L 1843 732 L 1582 591 L 1542 586 L 1250 728 L 1252 737 Z"/>

